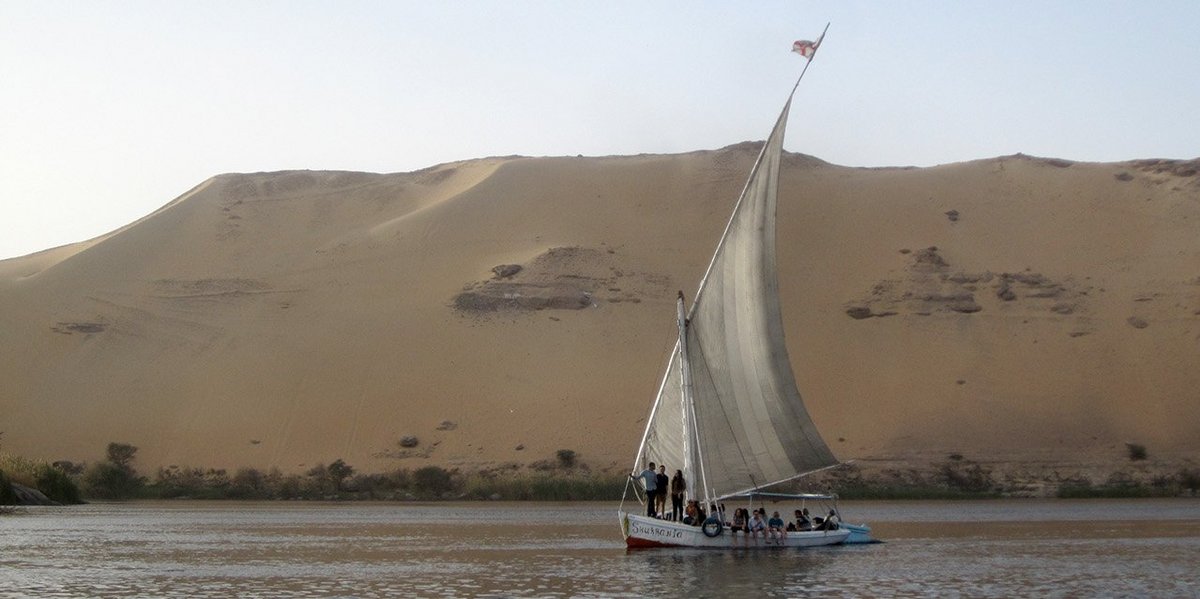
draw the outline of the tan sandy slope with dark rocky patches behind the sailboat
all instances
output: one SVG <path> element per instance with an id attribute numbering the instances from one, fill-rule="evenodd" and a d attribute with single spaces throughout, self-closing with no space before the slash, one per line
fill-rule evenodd
<path id="1" fill-rule="evenodd" d="M 143 469 L 284 471 L 574 449 L 624 468 L 676 289 L 695 292 L 755 155 L 216 176 L 0 262 L 4 449 L 80 461 L 121 441 Z M 1196 169 L 788 156 L 787 339 L 835 453 L 1195 456 Z"/>

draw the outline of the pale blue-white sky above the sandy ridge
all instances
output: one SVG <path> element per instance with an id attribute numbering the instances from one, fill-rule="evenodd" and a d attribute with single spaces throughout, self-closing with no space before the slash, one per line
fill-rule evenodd
<path id="1" fill-rule="evenodd" d="M 763 139 L 847 166 L 1200 156 L 1200 1 L 0 0 L 0 258 L 220 173 Z"/>

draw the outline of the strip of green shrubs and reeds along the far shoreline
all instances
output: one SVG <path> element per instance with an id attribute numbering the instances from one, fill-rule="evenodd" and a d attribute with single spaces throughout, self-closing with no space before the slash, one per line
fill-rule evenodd
<path id="1" fill-rule="evenodd" d="M 36 489 L 60 504 L 89 499 L 250 499 L 250 501 L 618 501 L 629 481 L 625 473 L 592 472 L 574 451 L 560 450 L 558 461 L 542 461 L 462 472 L 440 466 L 400 468 L 389 473 L 356 473 L 343 460 L 317 465 L 304 473 L 278 468 L 260 471 L 169 466 L 152 479 L 133 466 L 138 448 L 110 443 L 106 459 L 91 465 L 46 463 L 0 453 L 0 505 L 23 503 L 28 492 L 14 493 L 14 484 Z M 844 466 L 806 481 L 841 499 L 989 499 L 1014 497 L 1012 485 L 997 481 L 983 466 L 953 455 L 928 473 L 878 477 L 856 466 Z M 1054 489 L 1060 498 L 1195 497 L 1200 471 L 1181 469 L 1148 481 L 1110 477 L 1100 484 L 1064 480 Z"/>

